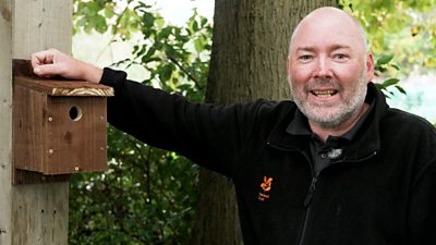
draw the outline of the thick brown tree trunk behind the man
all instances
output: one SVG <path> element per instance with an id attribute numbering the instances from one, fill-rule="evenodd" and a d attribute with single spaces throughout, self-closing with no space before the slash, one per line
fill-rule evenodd
<path id="1" fill-rule="evenodd" d="M 337 0 L 216 0 L 206 100 L 289 99 L 286 60 L 296 23 Z M 231 181 L 201 170 L 194 245 L 243 244 Z"/>

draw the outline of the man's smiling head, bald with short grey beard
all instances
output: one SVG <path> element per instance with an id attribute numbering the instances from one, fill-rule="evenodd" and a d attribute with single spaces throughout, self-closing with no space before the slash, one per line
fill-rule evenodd
<path id="1" fill-rule="evenodd" d="M 310 123 L 335 128 L 353 121 L 361 114 L 373 74 L 363 30 L 344 12 L 322 8 L 295 28 L 288 78 Z"/>

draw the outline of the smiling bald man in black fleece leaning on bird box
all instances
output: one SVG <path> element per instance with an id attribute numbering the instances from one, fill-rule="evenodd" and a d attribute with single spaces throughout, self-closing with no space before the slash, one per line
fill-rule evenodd
<path id="1" fill-rule="evenodd" d="M 32 61 L 40 76 L 113 86 L 111 124 L 231 177 L 246 245 L 436 244 L 435 128 L 386 105 L 365 34 L 338 9 L 292 35 L 294 102 L 195 105 L 56 50 Z"/>

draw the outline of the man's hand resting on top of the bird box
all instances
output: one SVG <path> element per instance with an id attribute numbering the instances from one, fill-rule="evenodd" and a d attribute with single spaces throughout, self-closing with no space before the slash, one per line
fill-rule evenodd
<path id="1" fill-rule="evenodd" d="M 48 49 L 32 54 L 34 73 L 41 77 L 60 75 L 69 79 L 84 79 L 99 83 L 102 70 L 76 60 L 56 49 Z"/>

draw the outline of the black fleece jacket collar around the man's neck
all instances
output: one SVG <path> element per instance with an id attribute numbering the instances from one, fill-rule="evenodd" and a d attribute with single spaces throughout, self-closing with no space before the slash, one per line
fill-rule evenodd
<path id="1" fill-rule="evenodd" d="M 343 161 L 360 161 L 374 156 L 380 149 L 379 123 L 388 110 L 384 94 L 373 83 L 367 85 L 366 100 L 374 100 L 374 108 L 367 115 L 353 139 L 343 148 Z M 294 103 L 293 103 L 294 105 Z M 288 117 L 279 121 L 268 137 L 268 145 L 280 150 L 307 151 L 310 134 L 291 135 L 287 132 L 295 115 L 296 106 L 289 110 Z"/>

